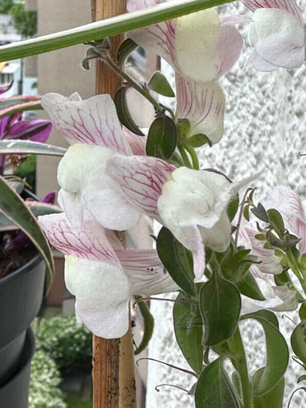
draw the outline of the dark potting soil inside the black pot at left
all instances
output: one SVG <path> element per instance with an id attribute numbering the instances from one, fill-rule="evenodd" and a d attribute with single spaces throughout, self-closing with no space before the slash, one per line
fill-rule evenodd
<path id="1" fill-rule="evenodd" d="M 34 245 L 27 243 L 23 248 L 13 251 L 4 251 L 3 243 L 0 244 L 0 279 L 15 272 L 28 263 L 37 253 Z"/>

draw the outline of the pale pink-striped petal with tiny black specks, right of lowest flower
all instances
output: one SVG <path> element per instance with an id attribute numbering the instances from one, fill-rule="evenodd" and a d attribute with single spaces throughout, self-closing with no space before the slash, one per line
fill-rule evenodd
<path id="1" fill-rule="evenodd" d="M 134 294 L 157 295 L 179 290 L 155 249 L 122 249 L 116 254 Z"/>

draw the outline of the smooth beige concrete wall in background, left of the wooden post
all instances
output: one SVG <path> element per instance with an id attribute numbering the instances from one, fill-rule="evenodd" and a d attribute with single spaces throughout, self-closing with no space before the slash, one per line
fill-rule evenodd
<path id="1" fill-rule="evenodd" d="M 67 30 L 91 22 L 90 0 L 39 0 L 38 35 Z M 83 99 L 94 95 L 95 69 L 85 71 L 81 60 L 86 46 L 79 45 L 41 54 L 37 58 L 38 93 L 58 92 L 69 96 L 77 91 Z M 40 117 L 47 118 L 45 113 Z M 51 133 L 49 143 L 67 147 L 57 132 Z M 58 159 L 38 157 L 37 194 L 43 197 L 57 190 L 56 169 Z"/>

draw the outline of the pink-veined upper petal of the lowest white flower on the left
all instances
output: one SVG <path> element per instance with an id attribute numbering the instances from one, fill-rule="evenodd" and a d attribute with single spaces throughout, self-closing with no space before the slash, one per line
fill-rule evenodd
<path id="1" fill-rule="evenodd" d="M 87 221 L 80 228 L 72 228 L 64 213 L 38 217 L 52 246 L 65 255 L 120 265 L 108 243 L 104 229 L 94 221 Z"/>

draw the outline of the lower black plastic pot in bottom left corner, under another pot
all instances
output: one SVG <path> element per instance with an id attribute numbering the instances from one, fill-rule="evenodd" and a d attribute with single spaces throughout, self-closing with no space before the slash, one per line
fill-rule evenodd
<path id="1" fill-rule="evenodd" d="M 35 336 L 29 328 L 21 350 L 18 372 L 0 387 L 0 408 L 28 408 L 30 368 L 34 350 Z"/>

